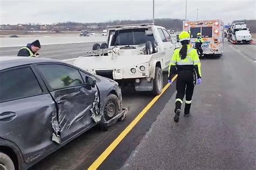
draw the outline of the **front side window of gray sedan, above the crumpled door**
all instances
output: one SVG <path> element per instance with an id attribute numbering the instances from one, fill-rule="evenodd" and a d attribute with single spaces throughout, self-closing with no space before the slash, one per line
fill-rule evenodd
<path id="1" fill-rule="evenodd" d="M 83 84 L 83 79 L 75 68 L 58 64 L 38 65 L 38 68 L 53 90 Z"/>

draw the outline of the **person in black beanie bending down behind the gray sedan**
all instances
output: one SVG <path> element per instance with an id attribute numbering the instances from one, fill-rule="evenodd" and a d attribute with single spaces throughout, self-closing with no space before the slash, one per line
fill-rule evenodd
<path id="1" fill-rule="evenodd" d="M 37 52 L 40 48 L 41 44 L 39 40 L 35 40 L 27 44 L 26 47 L 19 49 L 18 56 L 39 56 Z"/>

